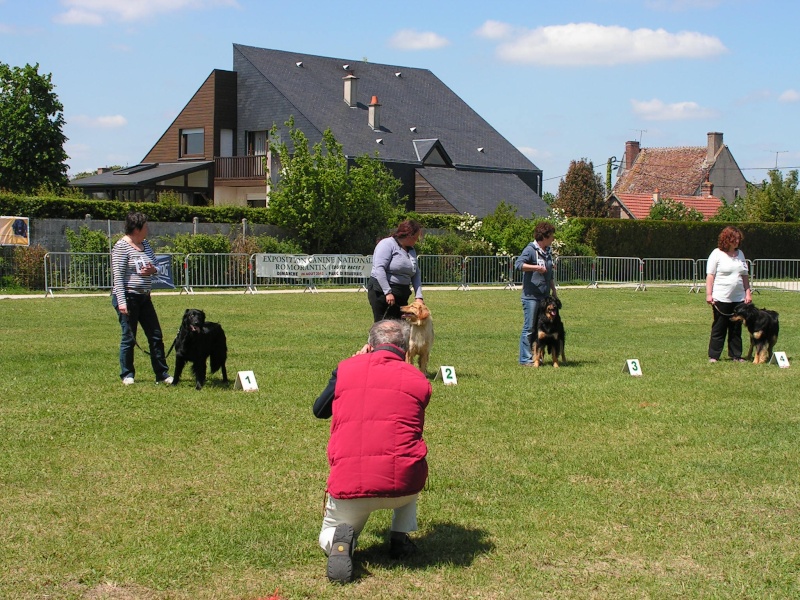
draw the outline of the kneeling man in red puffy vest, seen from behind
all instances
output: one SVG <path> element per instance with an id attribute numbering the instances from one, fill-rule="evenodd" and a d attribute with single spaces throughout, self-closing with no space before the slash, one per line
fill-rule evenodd
<path id="1" fill-rule="evenodd" d="M 353 548 L 369 515 L 392 509 L 389 555 L 416 550 L 417 496 L 428 477 L 422 430 L 431 384 L 406 362 L 410 327 L 379 321 L 367 352 L 343 360 L 314 403 L 314 416 L 332 418 L 328 441 L 328 498 L 319 544 L 328 579 L 353 578 Z"/>

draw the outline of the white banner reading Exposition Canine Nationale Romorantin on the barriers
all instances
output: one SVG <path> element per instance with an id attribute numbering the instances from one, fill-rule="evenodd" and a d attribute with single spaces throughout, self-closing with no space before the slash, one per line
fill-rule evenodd
<path id="1" fill-rule="evenodd" d="M 372 256 L 360 254 L 256 254 L 256 277 L 366 278 L 371 271 Z"/>

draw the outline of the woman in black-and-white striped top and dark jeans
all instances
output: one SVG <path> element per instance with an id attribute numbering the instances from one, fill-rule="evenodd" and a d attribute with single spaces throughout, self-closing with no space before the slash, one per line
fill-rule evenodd
<path id="1" fill-rule="evenodd" d="M 133 366 L 133 350 L 136 346 L 136 330 L 141 323 L 150 344 L 150 364 L 156 375 L 156 383 L 172 383 L 167 360 L 164 356 L 164 337 L 158 315 L 150 299 L 152 276 L 158 273 L 156 255 L 147 241 L 147 217 L 142 213 L 128 213 L 125 219 L 125 235 L 111 250 L 113 286 L 111 304 L 117 311 L 122 327 L 119 344 L 119 376 L 122 383 L 131 385 L 136 371 Z"/>

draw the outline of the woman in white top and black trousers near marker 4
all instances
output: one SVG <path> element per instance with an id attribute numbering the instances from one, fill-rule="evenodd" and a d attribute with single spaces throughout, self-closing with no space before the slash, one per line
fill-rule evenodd
<path id="1" fill-rule="evenodd" d="M 736 362 L 742 358 L 742 322 L 732 321 L 733 310 L 742 302 L 752 302 L 747 261 L 739 246 L 744 240 L 738 228 L 723 229 L 717 248 L 708 257 L 706 265 L 706 302 L 711 305 L 714 321 L 711 340 L 708 342 L 708 360 L 717 362 L 728 338 L 728 356 Z"/>

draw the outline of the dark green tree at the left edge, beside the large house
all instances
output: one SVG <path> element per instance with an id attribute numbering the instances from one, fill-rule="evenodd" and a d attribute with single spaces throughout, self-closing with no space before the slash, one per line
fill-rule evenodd
<path id="1" fill-rule="evenodd" d="M 64 107 L 39 65 L 0 62 L 0 189 L 31 193 L 67 183 Z"/>

